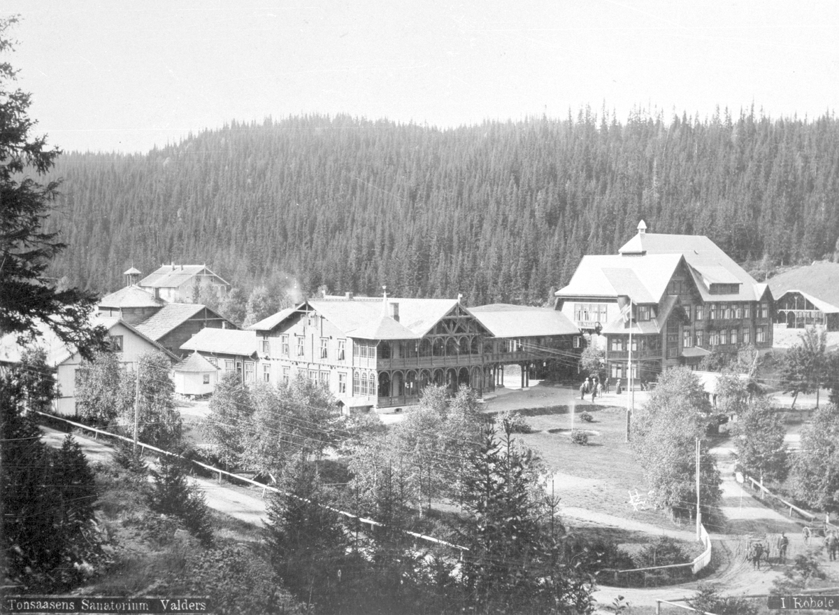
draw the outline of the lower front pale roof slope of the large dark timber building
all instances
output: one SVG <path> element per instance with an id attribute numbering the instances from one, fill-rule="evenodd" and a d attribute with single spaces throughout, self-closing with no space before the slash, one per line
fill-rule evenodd
<path id="1" fill-rule="evenodd" d="M 681 255 L 583 256 L 568 286 L 557 297 L 632 297 L 636 303 L 657 303 L 667 290 Z"/>

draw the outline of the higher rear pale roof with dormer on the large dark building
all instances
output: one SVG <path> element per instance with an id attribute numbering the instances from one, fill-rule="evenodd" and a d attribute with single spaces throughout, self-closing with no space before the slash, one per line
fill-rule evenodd
<path id="1" fill-rule="evenodd" d="M 704 235 L 639 232 L 618 250 L 626 259 L 651 255 L 685 257 L 703 301 L 758 301 L 763 287 L 720 247 Z M 709 292 L 708 284 L 739 284 L 739 292 L 726 295 Z"/>

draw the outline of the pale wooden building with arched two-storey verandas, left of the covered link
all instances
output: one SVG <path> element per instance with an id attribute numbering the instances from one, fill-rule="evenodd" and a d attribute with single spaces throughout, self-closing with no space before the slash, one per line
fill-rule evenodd
<path id="1" fill-rule="evenodd" d="M 566 327 L 571 346 L 579 332 Z M 533 344 L 524 340 L 496 339 L 453 299 L 347 293 L 304 302 L 249 329 L 257 334 L 266 380 L 284 384 L 303 375 L 329 388 L 342 407 L 386 412 L 416 404 L 430 385 L 450 393 L 467 385 L 482 395 L 497 386 L 503 363 L 531 365 L 541 356 L 525 351 Z"/>

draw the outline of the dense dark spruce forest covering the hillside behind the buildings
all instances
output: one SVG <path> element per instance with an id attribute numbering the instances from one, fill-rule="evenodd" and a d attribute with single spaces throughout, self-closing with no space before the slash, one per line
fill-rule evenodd
<path id="1" fill-rule="evenodd" d="M 59 144 L 60 145 L 60 144 Z M 50 275 L 205 263 L 244 292 L 543 303 L 581 255 L 636 232 L 706 234 L 740 262 L 839 250 L 839 122 L 586 109 L 434 129 L 346 116 L 232 123 L 148 155 L 60 157 Z"/>

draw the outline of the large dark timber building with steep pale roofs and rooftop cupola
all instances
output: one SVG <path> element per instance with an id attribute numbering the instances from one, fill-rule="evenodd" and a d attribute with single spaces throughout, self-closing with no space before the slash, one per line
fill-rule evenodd
<path id="1" fill-rule="evenodd" d="M 710 239 L 646 233 L 643 221 L 618 255 L 584 256 L 556 296 L 556 309 L 602 336 L 607 371 L 618 380 L 630 370 L 651 381 L 667 367 L 696 369 L 711 351 L 772 346 L 769 286 Z"/>

